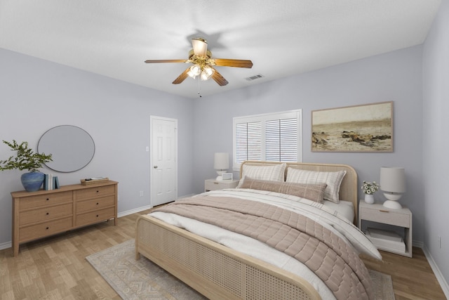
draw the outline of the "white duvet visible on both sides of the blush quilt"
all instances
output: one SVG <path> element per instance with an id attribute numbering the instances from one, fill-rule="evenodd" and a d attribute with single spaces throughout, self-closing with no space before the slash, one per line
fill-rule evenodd
<path id="1" fill-rule="evenodd" d="M 351 207 L 352 209 L 352 204 L 350 206 L 348 204 L 343 204 L 343 209 L 335 210 L 335 206 L 340 206 L 340 204 L 333 203 L 335 204 L 333 205 L 326 203 L 323 205 L 292 195 L 250 189 L 214 190 L 201 195 L 208 195 L 210 197 L 239 197 L 248 200 L 270 203 L 283 207 L 284 209 L 297 211 L 297 213 L 307 215 L 309 218 L 319 222 L 322 226 L 342 237 L 342 239 L 353 244 L 357 252 L 364 252 L 376 257 L 377 259 L 381 259 L 379 252 L 368 240 L 368 238 L 366 238 L 366 236 L 363 235 L 363 233 L 361 233 L 351 221 L 343 216 L 344 214 L 347 215 L 349 210 L 348 207 Z M 283 268 L 284 270 L 300 275 L 302 278 L 305 278 L 311 283 L 311 285 L 319 292 L 322 299 L 335 299 L 335 296 L 333 296 L 330 289 L 328 289 L 328 287 L 318 278 L 318 276 L 309 270 L 307 266 L 303 265 L 296 259 L 293 259 L 291 256 L 269 247 L 267 244 L 259 242 L 251 237 L 247 237 L 246 235 L 233 233 L 208 223 L 202 223 L 200 221 L 185 218 L 183 216 L 177 216 L 175 214 L 156 211 L 150 215 L 154 216 L 156 219 L 160 219 L 161 221 L 165 221 L 166 223 L 170 223 L 180 228 L 185 228 L 196 235 L 206 237 L 209 240 L 223 244 L 226 247 L 236 249 L 239 252 L 248 254 L 257 259 L 261 259 L 262 261 L 272 263 L 274 266 L 278 266 L 279 268 Z M 351 220 L 352 219 L 354 219 L 353 212 Z"/>

